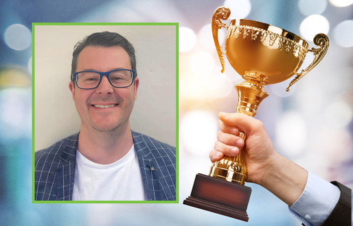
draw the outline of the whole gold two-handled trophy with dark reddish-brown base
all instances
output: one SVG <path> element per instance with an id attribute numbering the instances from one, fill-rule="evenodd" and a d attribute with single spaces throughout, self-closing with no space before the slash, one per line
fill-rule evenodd
<path id="1" fill-rule="evenodd" d="M 227 27 L 220 19 L 227 20 L 230 13 L 226 7 L 220 7 L 214 12 L 214 43 L 222 64 L 222 73 L 225 71 L 223 55 L 227 55 L 231 66 L 245 79 L 235 86 L 238 92 L 236 112 L 255 116 L 261 101 L 269 97 L 264 85 L 276 84 L 296 75 L 286 88 L 289 91 L 295 82 L 322 60 L 328 51 L 330 40 L 325 34 L 317 34 L 314 44 L 319 48 L 308 49 L 308 42 L 304 39 L 266 23 L 234 19 Z M 225 52 L 218 42 L 218 29 L 222 27 L 227 29 Z M 315 55 L 314 60 L 308 68 L 297 73 L 308 52 Z M 246 139 L 242 132 L 239 136 Z M 243 152 L 244 148 L 240 149 L 240 154 L 236 157 L 225 156 L 214 162 L 209 176 L 200 173 L 196 175 L 192 193 L 183 203 L 249 221 L 246 211 L 251 188 L 244 186 L 247 166 L 244 164 Z"/>

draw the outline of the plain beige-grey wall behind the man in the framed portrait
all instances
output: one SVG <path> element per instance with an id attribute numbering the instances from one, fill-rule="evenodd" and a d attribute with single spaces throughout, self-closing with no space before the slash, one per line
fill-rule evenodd
<path id="1" fill-rule="evenodd" d="M 139 89 L 131 129 L 176 145 L 175 25 L 36 25 L 35 151 L 80 130 L 69 90 L 73 46 L 94 32 L 117 32 L 135 48 Z"/>

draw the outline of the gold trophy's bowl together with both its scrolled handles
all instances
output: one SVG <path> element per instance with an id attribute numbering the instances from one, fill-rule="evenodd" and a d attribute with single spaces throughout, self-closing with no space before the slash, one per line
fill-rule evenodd
<path id="1" fill-rule="evenodd" d="M 223 55 L 226 54 L 229 63 L 239 75 L 249 79 L 247 74 L 255 73 L 262 85 L 276 84 L 297 75 L 298 78 L 291 82 L 289 88 L 322 60 L 330 45 L 328 36 L 317 34 L 314 44 L 320 48 L 308 49 L 308 42 L 303 38 L 280 27 L 258 21 L 234 19 L 227 27 L 220 19 L 227 19 L 229 15 L 228 8 L 220 7 L 212 18 L 212 34 L 222 72 L 225 71 Z M 225 52 L 218 42 L 218 29 L 222 27 L 227 28 Z M 315 59 L 308 68 L 297 73 L 308 51 L 314 53 Z"/>

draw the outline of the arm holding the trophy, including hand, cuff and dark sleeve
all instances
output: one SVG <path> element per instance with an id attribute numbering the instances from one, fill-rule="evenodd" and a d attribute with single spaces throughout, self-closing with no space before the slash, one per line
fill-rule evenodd
<path id="1" fill-rule="evenodd" d="M 247 181 L 259 184 L 284 201 L 306 226 L 351 225 L 352 190 L 328 183 L 275 151 L 264 125 L 250 116 L 220 112 L 220 131 L 212 162 L 236 156 L 246 145 Z M 247 134 L 244 142 L 239 131 Z M 245 144 L 246 143 L 246 144 Z"/>

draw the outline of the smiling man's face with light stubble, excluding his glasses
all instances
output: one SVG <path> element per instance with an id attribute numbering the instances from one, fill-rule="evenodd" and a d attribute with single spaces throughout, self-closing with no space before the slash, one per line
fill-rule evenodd
<path id="1" fill-rule="evenodd" d="M 122 47 L 84 47 L 78 55 L 78 71 L 112 71 L 131 69 L 128 53 Z M 126 88 L 114 88 L 106 76 L 100 86 L 91 90 L 82 90 L 69 84 L 75 101 L 76 110 L 81 118 L 81 127 L 98 131 L 113 131 L 119 126 L 128 125 L 128 118 L 137 97 L 139 79 Z M 108 106 L 108 108 L 106 108 Z M 104 107 L 104 108 L 102 108 Z"/>

